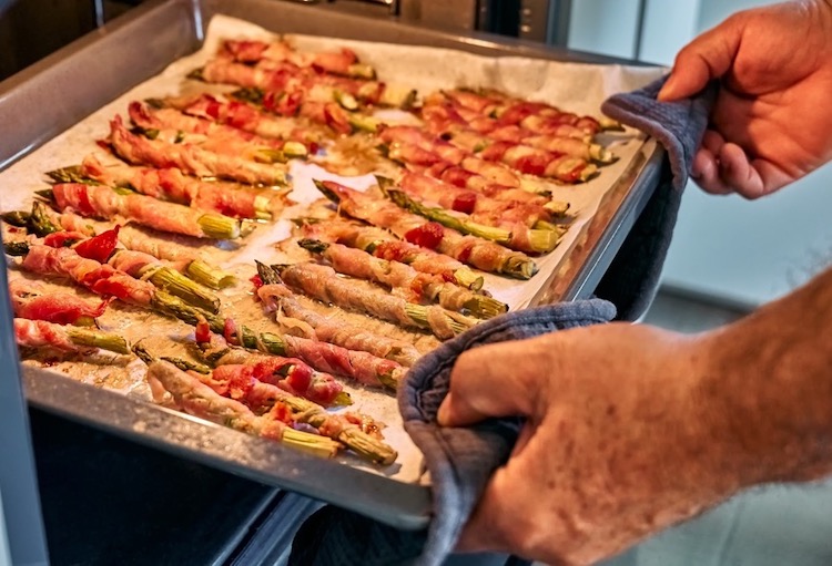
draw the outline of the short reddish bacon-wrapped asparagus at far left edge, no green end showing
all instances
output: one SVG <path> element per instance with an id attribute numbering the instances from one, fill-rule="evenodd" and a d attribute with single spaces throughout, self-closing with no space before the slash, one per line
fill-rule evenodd
<path id="1" fill-rule="evenodd" d="M 55 325 L 93 326 L 110 305 L 103 300 L 92 306 L 70 292 L 48 292 L 41 284 L 26 279 L 9 281 L 9 296 L 17 318 Z"/>

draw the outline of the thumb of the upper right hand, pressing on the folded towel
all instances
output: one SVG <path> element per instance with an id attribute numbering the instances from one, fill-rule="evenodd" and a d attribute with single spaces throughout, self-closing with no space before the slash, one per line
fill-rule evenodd
<path id="1" fill-rule="evenodd" d="M 743 20 L 729 18 L 688 43 L 676 56 L 659 101 L 671 102 L 697 94 L 713 79 L 724 75 L 737 56 Z"/>

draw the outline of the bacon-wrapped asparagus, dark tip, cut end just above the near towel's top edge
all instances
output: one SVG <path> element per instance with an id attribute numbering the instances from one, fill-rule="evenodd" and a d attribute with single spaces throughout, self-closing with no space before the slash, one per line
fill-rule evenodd
<path id="1" fill-rule="evenodd" d="M 325 259 L 337 272 L 385 285 L 410 302 L 438 302 L 445 309 L 486 319 L 508 310 L 497 299 L 448 282 L 442 276 L 420 274 L 399 261 L 379 259 L 341 244 L 315 239 L 302 239 L 297 244 Z"/>

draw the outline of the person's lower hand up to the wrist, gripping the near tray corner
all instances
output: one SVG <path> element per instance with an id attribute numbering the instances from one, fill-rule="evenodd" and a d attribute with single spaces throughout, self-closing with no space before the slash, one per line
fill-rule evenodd
<path id="1" fill-rule="evenodd" d="M 626 323 L 463 353 L 439 423 L 527 420 L 459 549 L 591 564 L 733 493 L 707 363 L 699 338 Z"/>

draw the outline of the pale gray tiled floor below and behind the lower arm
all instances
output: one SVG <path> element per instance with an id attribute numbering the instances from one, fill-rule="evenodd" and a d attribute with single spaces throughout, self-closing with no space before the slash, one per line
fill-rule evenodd
<path id="1" fill-rule="evenodd" d="M 743 315 L 735 307 L 663 292 L 645 322 L 699 332 Z M 830 566 L 832 481 L 738 495 L 603 566 Z"/>

